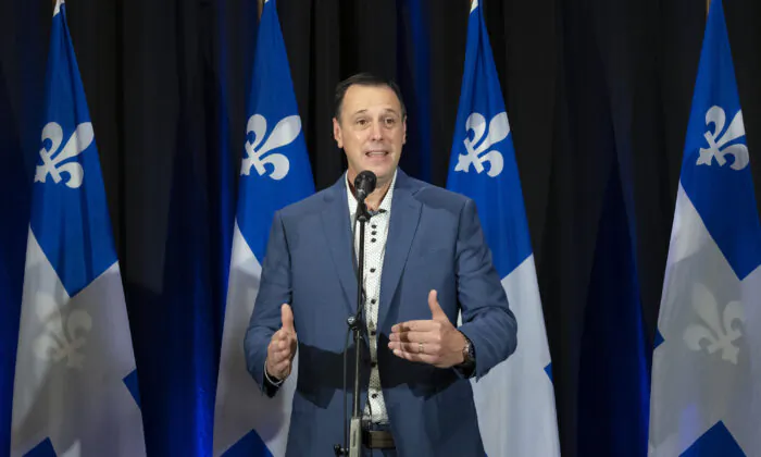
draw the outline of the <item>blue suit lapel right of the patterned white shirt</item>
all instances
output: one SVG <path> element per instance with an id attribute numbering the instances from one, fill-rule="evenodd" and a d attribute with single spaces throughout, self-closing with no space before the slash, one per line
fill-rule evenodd
<path id="1" fill-rule="evenodd" d="M 397 174 L 397 184 L 391 201 L 391 219 L 386 242 L 386 256 L 380 276 L 380 304 L 378 306 L 378 324 L 383 328 L 391 299 L 404 271 L 404 264 L 417 231 L 422 205 L 413 198 L 414 188 L 410 178 L 401 171 Z"/>

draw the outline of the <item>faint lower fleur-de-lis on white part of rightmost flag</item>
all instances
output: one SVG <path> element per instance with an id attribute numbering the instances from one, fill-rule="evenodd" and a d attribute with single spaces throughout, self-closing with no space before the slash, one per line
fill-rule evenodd
<path id="1" fill-rule="evenodd" d="M 693 308 L 706 325 L 690 324 L 687 326 L 684 333 L 687 346 L 693 350 L 702 350 L 701 342 L 704 341 L 708 354 L 721 349 L 722 359 L 737 365 L 740 349 L 734 345 L 734 342 L 739 339 L 743 333 L 734 324 L 735 322 L 738 324 L 745 322 L 740 302 L 731 301 L 727 304 L 720 317 L 719 304 L 711 291 L 702 284 L 696 284 L 693 289 Z"/>

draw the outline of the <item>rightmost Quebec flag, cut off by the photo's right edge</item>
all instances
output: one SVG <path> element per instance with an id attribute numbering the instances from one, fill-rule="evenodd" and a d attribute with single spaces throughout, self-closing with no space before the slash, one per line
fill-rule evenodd
<path id="1" fill-rule="evenodd" d="M 650 456 L 761 455 L 761 225 L 749 159 L 713 0 L 658 319 Z"/>

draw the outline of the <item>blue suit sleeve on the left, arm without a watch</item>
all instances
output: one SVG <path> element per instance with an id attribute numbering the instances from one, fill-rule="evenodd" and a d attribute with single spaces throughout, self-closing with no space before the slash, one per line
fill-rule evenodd
<path id="1" fill-rule="evenodd" d="M 266 256 L 262 263 L 259 294 L 244 338 L 246 368 L 262 392 L 270 397 L 277 393 L 279 386 L 267 382 L 264 375 L 266 349 L 272 335 L 282 326 L 280 306 L 290 304 L 290 255 L 285 226 L 278 212 L 273 218 Z"/>

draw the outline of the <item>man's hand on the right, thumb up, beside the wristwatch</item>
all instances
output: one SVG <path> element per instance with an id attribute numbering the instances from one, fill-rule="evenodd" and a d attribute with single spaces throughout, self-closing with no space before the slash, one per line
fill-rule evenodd
<path id="1" fill-rule="evenodd" d="M 428 307 L 433 319 L 394 325 L 388 347 L 397 357 L 438 368 L 462 363 L 465 336 L 447 318 L 436 299 L 436 291 L 428 294 Z"/>

